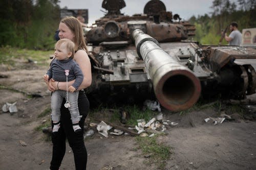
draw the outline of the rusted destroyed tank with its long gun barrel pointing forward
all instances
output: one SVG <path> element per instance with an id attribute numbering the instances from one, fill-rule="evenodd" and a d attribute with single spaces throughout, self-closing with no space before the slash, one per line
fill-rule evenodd
<path id="1" fill-rule="evenodd" d="M 255 92 L 254 49 L 188 40 L 195 26 L 159 0 L 147 2 L 143 14 L 124 15 L 124 7 L 122 0 L 104 0 L 108 12 L 86 34 L 93 78 L 86 92 L 92 105 L 156 99 L 181 111 L 200 96 L 244 99 Z"/>

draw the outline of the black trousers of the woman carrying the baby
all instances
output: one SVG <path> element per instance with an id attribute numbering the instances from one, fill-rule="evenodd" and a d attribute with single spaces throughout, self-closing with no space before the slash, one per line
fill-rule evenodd
<path id="1" fill-rule="evenodd" d="M 89 101 L 84 91 L 79 91 L 78 95 L 78 109 L 82 115 L 79 126 L 82 131 L 75 133 L 72 127 L 71 116 L 69 110 L 64 107 L 66 100 L 64 99 L 61 105 L 60 128 L 57 134 L 52 135 L 53 151 L 51 170 L 58 170 L 61 161 L 66 152 L 66 137 L 69 145 L 74 153 L 76 170 L 85 170 L 87 165 L 87 151 L 83 141 L 84 120 L 89 112 Z M 52 124 L 53 127 L 53 124 Z"/>

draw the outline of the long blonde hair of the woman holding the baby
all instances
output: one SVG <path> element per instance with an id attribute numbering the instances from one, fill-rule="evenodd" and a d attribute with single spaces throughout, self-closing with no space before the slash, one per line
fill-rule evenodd
<path id="1" fill-rule="evenodd" d="M 60 22 L 65 23 L 65 25 L 68 26 L 68 28 L 75 35 L 75 51 L 84 48 L 84 50 L 88 52 L 86 40 L 83 37 L 83 30 L 80 21 L 73 16 L 66 16 L 65 18 L 61 19 Z"/>

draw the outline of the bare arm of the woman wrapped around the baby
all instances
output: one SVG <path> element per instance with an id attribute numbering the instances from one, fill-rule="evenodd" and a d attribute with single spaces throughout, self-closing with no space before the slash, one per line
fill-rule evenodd
<path id="1" fill-rule="evenodd" d="M 83 51 L 83 50 L 77 51 L 75 53 L 74 60 L 77 62 L 77 64 L 81 68 L 82 74 L 83 74 L 83 81 L 79 86 L 78 90 L 89 87 L 92 83 L 92 72 L 91 72 L 91 62 L 86 51 Z M 68 82 L 68 87 L 71 86 L 74 82 L 75 80 Z M 55 90 L 67 90 L 66 82 L 51 81 L 48 84 L 49 84 L 48 86 L 50 87 L 48 89 L 52 89 L 53 87 Z"/>

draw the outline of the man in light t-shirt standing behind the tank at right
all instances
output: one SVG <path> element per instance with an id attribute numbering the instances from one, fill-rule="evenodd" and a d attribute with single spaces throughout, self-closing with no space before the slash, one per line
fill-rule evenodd
<path id="1" fill-rule="evenodd" d="M 227 33 L 225 33 L 225 39 L 229 42 L 229 45 L 240 45 L 242 42 L 242 34 L 238 30 L 238 24 L 237 22 L 230 23 L 229 26 L 230 34 L 227 36 Z"/>

